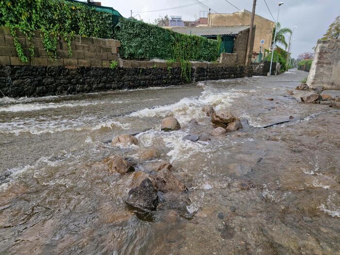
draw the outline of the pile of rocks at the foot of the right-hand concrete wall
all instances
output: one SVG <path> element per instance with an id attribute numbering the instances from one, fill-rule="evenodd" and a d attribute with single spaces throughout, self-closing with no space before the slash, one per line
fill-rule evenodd
<path id="1" fill-rule="evenodd" d="M 301 84 L 295 88 L 296 90 L 310 90 L 308 85 Z M 319 104 L 326 104 L 331 107 L 340 108 L 340 98 L 339 97 L 332 97 L 329 94 L 321 94 L 323 92 L 323 86 L 316 86 L 307 93 L 306 95 L 300 97 L 301 102 L 305 103 L 319 103 Z"/>

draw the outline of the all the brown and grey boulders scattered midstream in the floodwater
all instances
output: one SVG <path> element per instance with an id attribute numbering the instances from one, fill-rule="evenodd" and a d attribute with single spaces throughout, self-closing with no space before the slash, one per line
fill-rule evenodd
<path id="1" fill-rule="evenodd" d="M 200 134 L 189 134 L 183 137 L 183 140 L 192 142 L 208 141 L 211 136 L 224 136 L 227 132 L 236 131 L 242 128 L 242 124 L 229 110 L 215 111 L 215 109 L 206 105 L 202 111 L 207 117 L 211 118 L 214 129 Z M 189 121 L 191 125 L 198 125 L 196 119 Z M 171 132 L 181 129 L 181 125 L 177 119 L 167 117 L 161 122 L 161 130 Z M 138 139 L 135 136 L 123 134 L 114 137 L 111 141 L 113 146 L 127 147 L 138 145 Z M 162 152 L 157 148 L 144 148 L 137 153 L 137 158 L 140 162 L 146 162 L 154 159 L 159 159 Z M 153 167 L 143 167 L 143 170 L 138 170 L 138 162 L 130 157 L 123 158 L 116 154 L 109 156 L 102 162 L 108 171 L 119 174 L 134 174 L 132 179 L 132 187 L 129 190 L 126 198 L 126 203 L 133 207 L 144 211 L 152 211 L 158 208 L 171 209 L 179 206 L 182 209 L 186 208 L 190 200 L 185 195 L 187 187 L 175 176 L 174 168 L 170 162 L 161 162 Z M 143 165 L 143 163 L 140 163 Z M 137 169 L 137 170 L 136 170 Z M 146 170 L 148 169 L 148 170 Z"/>

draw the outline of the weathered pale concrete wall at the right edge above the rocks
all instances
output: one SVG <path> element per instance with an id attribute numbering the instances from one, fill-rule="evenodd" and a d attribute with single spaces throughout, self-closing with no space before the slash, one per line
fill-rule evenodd
<path id="1" fill-rule="evenodd" d="M 340 39 L 318 41 L 307 85 L 340 89 Z"/>

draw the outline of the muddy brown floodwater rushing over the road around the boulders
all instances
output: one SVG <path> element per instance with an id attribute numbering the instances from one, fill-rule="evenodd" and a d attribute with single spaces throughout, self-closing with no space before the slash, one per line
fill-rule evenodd
<path id="1" fill-rule="evenodd" d="M 289 95 L 306 75 L 0 99 L 0 254 L 339 254 L 340 110 Z M 205 104 L 249 125 L 183 141 L 212 129 Z M 160 132 L 168 116 L 181 130 Z M 124 133 L 139 144 L 105 143 Z M 101 164 L 116 153 L 170 161 L 186 206 L 127 206 L 134 173 Z"/>

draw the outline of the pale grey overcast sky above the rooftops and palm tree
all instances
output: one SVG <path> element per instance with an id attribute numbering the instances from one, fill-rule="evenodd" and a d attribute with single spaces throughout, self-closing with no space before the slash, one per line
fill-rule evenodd
<path id="1" fill-rule="evenodd" d="M 100 0 L 98 0 L 100 1 Z M 124 17 L 137 13 L 145 22 L 153 22 L 160 16 L 182 16 L 185 20 L 194 20 L 199 17 L 200 11 L 207 11 L 209 6 L 218 13 L 233 13 L 238 10 L 225 0 L 200 0 L 204 5 L 196 4 L 185 8 L 166 11 L 148 12 L 165 8 L 178 7 L 186 4 L 198 3 L 197 0 L 101 0 L 102 5 L 111 6 Z M 238 9 L 252 10 L 253 0 L 228 0 Z M 276 19 L 279 0 L 266 0 Z M 313 51 L 317 40 L 323 36 L 328 26 L 340 15 L 340 0 L 282 0 L 279 22 L 282 27 L 292 28 L 297 26 L 293 37 L 296 39 L 292 45 L 292 56 L 296 57 L 304 51 Z M 213 11 L 212 11 L 213 12 Z M 264 0 L 257 0 L 256 14 L 272 19 Z M 136 18 L 139 18 L 136 16 Z M 288 39 L 287 39 L 288 41 Z"/>

